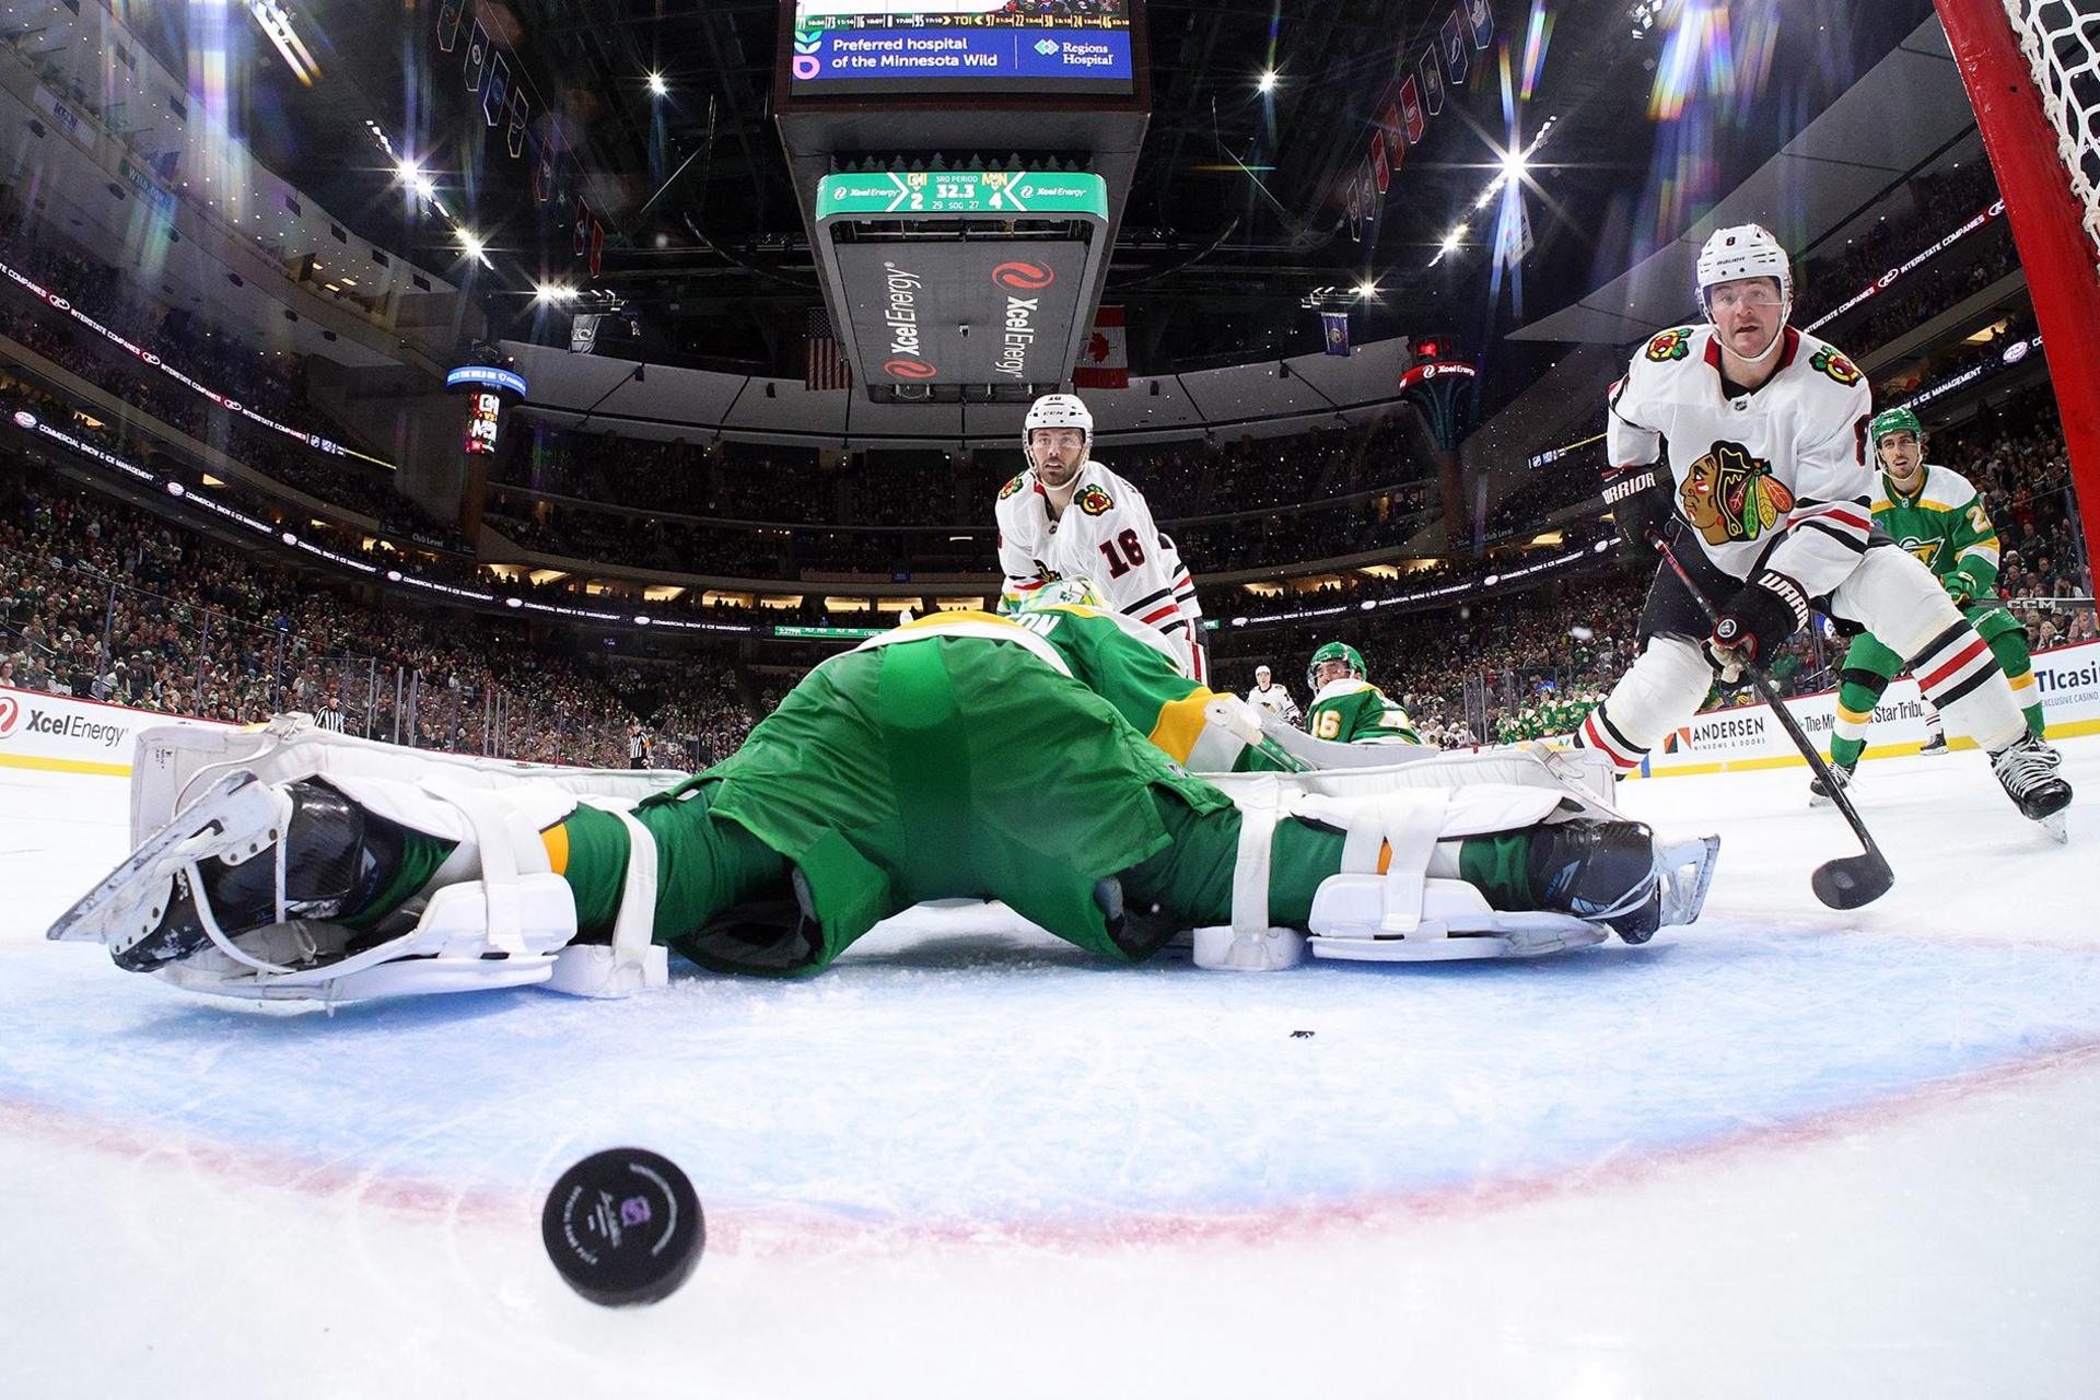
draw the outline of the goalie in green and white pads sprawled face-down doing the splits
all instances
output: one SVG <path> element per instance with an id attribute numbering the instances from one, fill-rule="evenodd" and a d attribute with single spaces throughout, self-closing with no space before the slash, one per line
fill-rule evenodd
<path id="1" fill-rule="evenodd" d="M 143 842 L 50 936 L 195 991 L 355 999 L 622 995 L 664 980 L 666 947 L 808 974 L 958 896 L 1119 963 L 1193 930 L 1197 963 L 1233 968 L 1533 955 L 1697 917 L 1714 837 L 1657 846 L 1558 756 L 1195 777 L 1195 747 L 1247 758 L 1205 718 L 1231 697 L 1084 600 L 1044 607 L 832 657 L 672 787 L 296 718 L 153 730 Z"/>

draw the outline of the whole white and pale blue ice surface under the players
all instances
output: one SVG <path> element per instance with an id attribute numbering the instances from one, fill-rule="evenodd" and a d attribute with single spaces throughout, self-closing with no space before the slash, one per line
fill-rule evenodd
<path id="1" fill-rule="evenodd" d="M 1004 911 L 808 982 L 284 1014 L 46 921 L 122 779 L 0 768 L 0 1354 L 19 1396 L 2094 1396 L 2100 739 L 2071 846 L 1976 754 L 1621 789 L 1707 917 L 1535 963 L 1111 970 Z M 1306 1035 L 1308 1033 L 1308 1035 Z M 708 1255 L 540 1245 L 638 1144 Z"/>

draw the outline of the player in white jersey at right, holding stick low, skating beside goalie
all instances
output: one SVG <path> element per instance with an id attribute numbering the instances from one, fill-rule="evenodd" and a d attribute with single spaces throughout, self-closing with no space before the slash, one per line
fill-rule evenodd
<path id="1" fill-rule="evenodd" d="M 1871 395 L 1835 346 L 1787 325 L 1793 277 L 1758 225 L 1699 254 L 1705 325 L 1648 340 L 1611 388 L 1604 500 L 1636 550 L 1674 552 L 1714 600 L 1709 625 L 1667 563 L 1640 617 L 1644 649 L 1581 726 L 1621 770 L 1690 722 L 1716 676 L 1768 661 L 1810 607 L 1905 657 L 1934 705 L 1991 754 L 2022 814 L 2062 835 L 2071 787 L 2029 735 L 2003 670 L 1932 571 L 1871 514 Z"/>

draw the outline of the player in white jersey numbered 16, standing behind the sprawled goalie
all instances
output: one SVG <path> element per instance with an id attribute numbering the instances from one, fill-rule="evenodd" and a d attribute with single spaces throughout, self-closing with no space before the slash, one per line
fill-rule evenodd
<path id="1" fill-rule="evenodd" d="M 1000 611 L 1063 577 L 1090 577 L 1109 607 L 1157 628 L 1191 680 L 1208 680 L 1203 613 L 1180 550 L 1153 525 L 1144 493 L 1094 462 L 1094 416 L 1075 395 L 1044 395 L 1021 426 L 1027 470 L 1000 489 Z"/>

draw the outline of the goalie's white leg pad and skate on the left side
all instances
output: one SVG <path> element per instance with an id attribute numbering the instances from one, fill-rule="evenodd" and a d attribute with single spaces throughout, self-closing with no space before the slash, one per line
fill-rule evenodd
<path id="1" fill-rule="evenodd" d="M 540 831 L 573 812 L 552 783 L 472 789 L 235 770 L 50 926 L 130 972 L 214 997 L 355 1001 L 540 984 L 622 997 L 666 980 L 651 942 L 655 844 L 630 823 L 611 942 L 578 940 Z M 620 810 L 620 808 L 609 808 Z M 449 846 L 405 890 L 407 833 Z"/>

